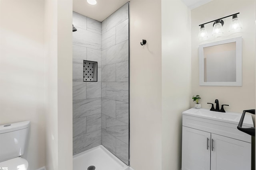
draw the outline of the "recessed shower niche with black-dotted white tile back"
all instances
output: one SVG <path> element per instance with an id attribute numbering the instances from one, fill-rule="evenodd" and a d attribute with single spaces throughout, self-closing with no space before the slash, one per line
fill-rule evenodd
<path id="1" fill-rule="evenodd" d="M 98 62 L 84 60 L 84 82 L 97 81 Z"/>

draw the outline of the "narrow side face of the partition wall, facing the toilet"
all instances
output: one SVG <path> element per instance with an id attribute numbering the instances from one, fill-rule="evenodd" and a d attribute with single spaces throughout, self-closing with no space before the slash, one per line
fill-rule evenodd
<path id="1" fill-rule="evenodd" d="M 46 145 L 47 170 L 58 169 L 58 84 L 57 84 L 57 1 L 44 4 L 45 44 L 45 97 L 46 97 Z"/>

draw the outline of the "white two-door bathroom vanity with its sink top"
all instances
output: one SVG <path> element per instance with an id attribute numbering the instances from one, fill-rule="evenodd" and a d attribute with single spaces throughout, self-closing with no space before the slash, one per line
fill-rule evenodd
<path id="1" fill-rule="evenodd" d="M 182 170 L 251 170 L 251 136 L 241 113 L 191 108 L 182 113 Z M 246 114 L 243 127 L 254 127 Z"/>

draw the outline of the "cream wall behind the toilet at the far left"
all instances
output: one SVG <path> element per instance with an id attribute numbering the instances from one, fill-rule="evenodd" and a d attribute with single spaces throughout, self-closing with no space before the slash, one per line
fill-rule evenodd
<path id="1" fill-rule="evenodd" d="M 44 166 L 44 0 L 0 1 L 0 124 L 31 121 L 31 170 Z"/>

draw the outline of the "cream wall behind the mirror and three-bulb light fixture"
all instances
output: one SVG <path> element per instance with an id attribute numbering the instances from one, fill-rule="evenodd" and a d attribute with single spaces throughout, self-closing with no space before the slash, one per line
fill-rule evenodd
<path id="1" fill-rule="evenodd" d="M 240 12 L 238 18 L 242 22 L 239 33 L 229 33 L 228 27 L 232 17 L 224 20 L 222 37 L 212 37 L 212 23 L 205 25 L 208 31 L 206 41 L 198 40 L 199 26 L 202 23 L 216 20 L 224 16 Z M 214 103 L 218 99 L 221 104 L 229 104 L 226 111 L 242 113 L 244 109 L 255 108 L 255 0 L 223 1 L 214 0 L 191 11 L 192 20 L 192 95 L 201 96 L 202 108 L 209 108 L 207 102 Z M 242 36 L 242 87 L 232 86 L 199 86 L 198 45 L 212 41 L 220 41 Z M 190 100 L 190 106 L 194 102 Z"/>

